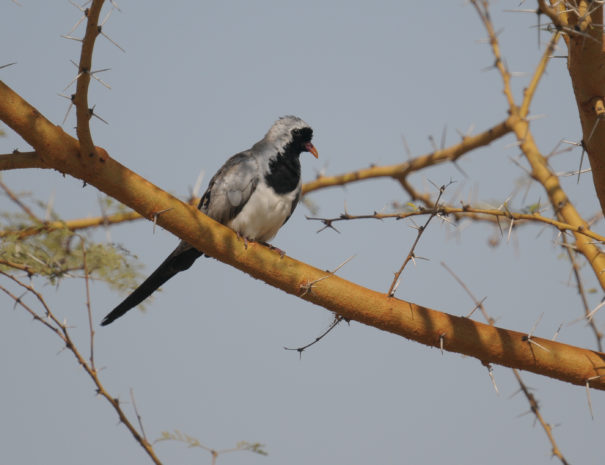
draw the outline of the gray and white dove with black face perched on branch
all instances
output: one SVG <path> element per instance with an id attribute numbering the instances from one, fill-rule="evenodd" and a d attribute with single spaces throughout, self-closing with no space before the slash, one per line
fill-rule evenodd
<path id="1" fill-rule="evenodd" d="M 319 157 L 313 129 L 282 116 L 250 149 L 233 155 L 210 179 L 198 209 L 248 241 L 267 244 L 292 215 L 301 196 L 302 152 Z M 283 252 L 282 252 L 283 253 Z M 139 305 L 162 284 L 185 271 L 204 252 L 181 241 L 158 268 L 101 321 L 106 326 Z"/>

